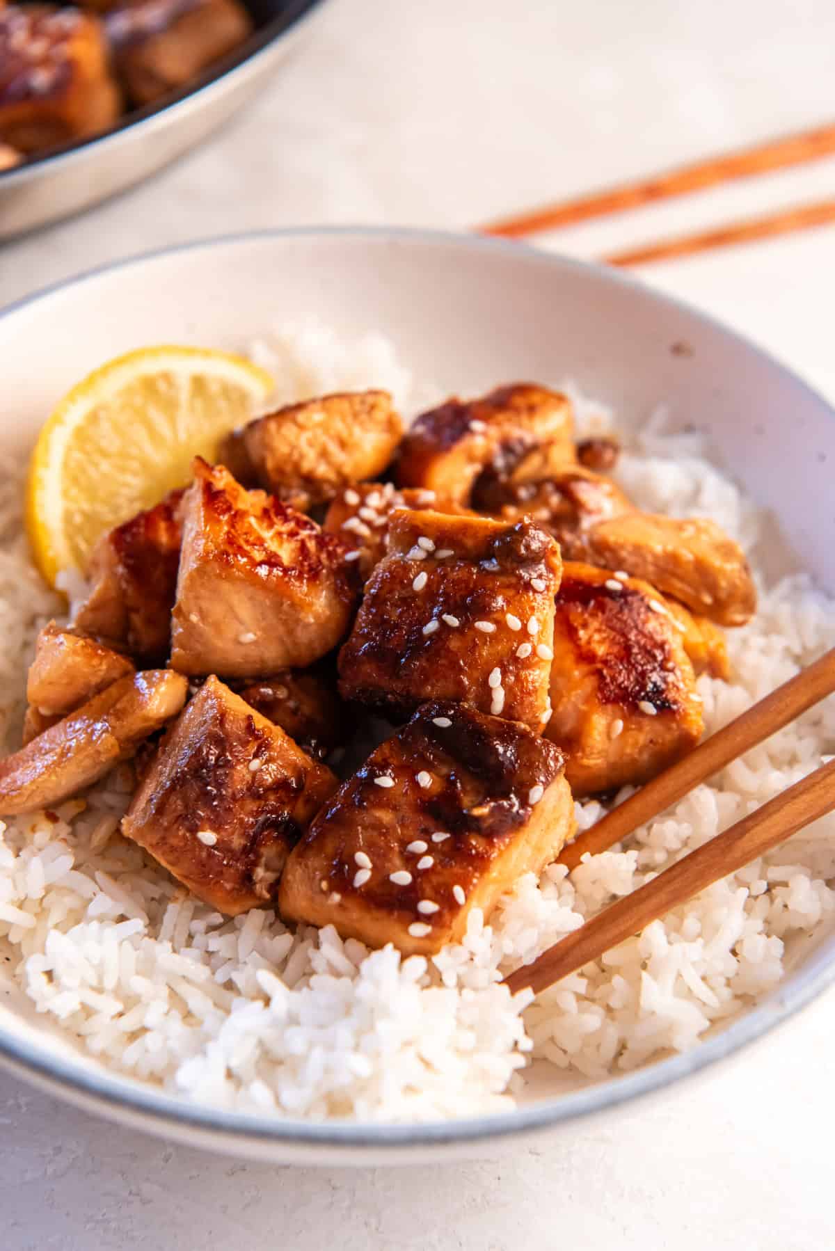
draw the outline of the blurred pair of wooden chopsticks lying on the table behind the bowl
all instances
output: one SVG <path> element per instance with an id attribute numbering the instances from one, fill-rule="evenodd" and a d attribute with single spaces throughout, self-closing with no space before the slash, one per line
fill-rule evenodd
<path id="1" fill-rule="evenodd" d="M 548 204 L 531 213 L 487 223 L 478 230 L 482 234 L 522 239 L 546 230 L 577 225 L 593 218 L 623 213 L 645 204 L 674 199 L 690 191 L 706 190 L 722 183 L 769 174 L 794 165 L 805 165 L 832 154 L 835 154 L 835 124 L 775 139 L 711 160 L 682 165 L 666 174 L 625 183 L 622 186 L 605 191 Z M 757 239 L 770 239 L 796 230 L 809 230 L 812 226 L 832 221 L 835 221 L 835 199 L 784 209 L 746 221 L 734 221 L 712 230 L 662 239 L 641 248 L 612 253 L 603 260 L 610 265 L 642 265 L 653 260 L 669 260 L 697 251 L 709 251 L 714 248 L 726 248 L 731 244 L 752 243 Z"/>

